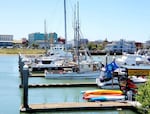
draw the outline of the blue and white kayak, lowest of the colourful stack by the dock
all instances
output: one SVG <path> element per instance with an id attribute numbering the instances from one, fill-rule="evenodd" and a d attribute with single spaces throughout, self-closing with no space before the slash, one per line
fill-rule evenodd
<path id="1" fill-rule="evenodd" d="M 117 100 L 125 100 L 125 95 L 103 95 L 99 97 L 90 98 L 88 101 L 96 102 L 96 101 L 117 101 Z"/>

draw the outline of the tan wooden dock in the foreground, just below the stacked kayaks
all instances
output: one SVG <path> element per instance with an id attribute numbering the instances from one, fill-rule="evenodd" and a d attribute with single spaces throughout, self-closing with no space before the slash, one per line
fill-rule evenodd
<path id="1" fill-rule="evenodd" d="M 30 104 L 27 109 L 20 107 L 20 112 L 87 111 L 104 109 L 135 109 L 135 106 L 128 102 L 65 102 Z"/>

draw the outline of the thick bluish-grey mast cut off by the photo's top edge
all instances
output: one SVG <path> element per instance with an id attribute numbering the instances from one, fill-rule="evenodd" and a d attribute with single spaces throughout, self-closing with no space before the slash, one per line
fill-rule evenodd
<path id="1" fill-rule="evenodd" d="M 66 0 L 64 0 L 64 24 L 65 24 L 65 50 L 67 51 L 67 18 L 66 18 Z"/>

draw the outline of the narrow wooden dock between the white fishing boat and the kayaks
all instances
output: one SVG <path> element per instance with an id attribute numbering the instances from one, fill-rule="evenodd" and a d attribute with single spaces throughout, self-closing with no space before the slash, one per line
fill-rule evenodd
<path id="1" fill-rule="evenodd" d="M 94 82 L 85 83 L 51 83 L 51 84 L 29 84 L 29 88 L 47 88 L 47 87 L 97 87 Z M 19 85 L 22 88 L 22 85 Z"/>

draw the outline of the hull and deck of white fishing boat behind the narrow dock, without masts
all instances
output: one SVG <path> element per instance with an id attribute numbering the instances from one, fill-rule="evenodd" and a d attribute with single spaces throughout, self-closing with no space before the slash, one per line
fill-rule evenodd
<path id="1" fill-rule="evenodd" d="M 80 63 L 80 67 L 62 68 L 61 70 L 45 71 L 45 78 L 53 79 L 95 79 L 100 75 L 98 64 Z"/>

